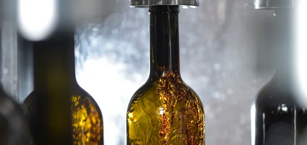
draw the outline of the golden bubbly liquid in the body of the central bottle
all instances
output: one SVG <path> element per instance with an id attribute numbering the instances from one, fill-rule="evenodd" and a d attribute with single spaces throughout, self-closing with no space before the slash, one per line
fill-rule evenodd
<path id="1" fill-rule="evenodd" d="M 127 111 L 128 144 L 204 144 L 201 100 L 170 72 L 144 84 Z"/>

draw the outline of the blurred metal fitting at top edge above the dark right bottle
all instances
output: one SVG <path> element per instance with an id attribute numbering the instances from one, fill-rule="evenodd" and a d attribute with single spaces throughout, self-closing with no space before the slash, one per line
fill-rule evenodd
<path id="1" fill-rule="evenodd" d="M 254 0 L 254 8 L 260 10 L 294 8 L 294 1 L 295 0 Z"/>

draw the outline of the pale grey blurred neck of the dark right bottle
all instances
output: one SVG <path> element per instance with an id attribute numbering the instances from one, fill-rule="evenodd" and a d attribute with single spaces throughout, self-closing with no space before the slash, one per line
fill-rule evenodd
<path id="1" fill-rule="evenodd" d="M 294 31 L 293 10 L 275 10 L 273 51 L 275 55 L 275 76 L 291 80 L 294 75 Z"/>

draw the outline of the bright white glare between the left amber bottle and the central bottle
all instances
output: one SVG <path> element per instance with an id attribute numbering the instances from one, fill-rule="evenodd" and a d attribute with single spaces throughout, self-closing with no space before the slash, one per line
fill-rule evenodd
<path id="1" fill-rule="evenodd" d="M 121 74 L 125 67 L 124 63 L 116 63 L 109 56 L 90 55 L 76 74 L 80 86 L 91 94 L 101 109 L 104 144 L 108 145 L 117 145 L 119 138 L 125 137 L 122 135 L 126 133 L 128 103 L 147 78 L 144 75 L 140 80 L 131 81 Z"/>

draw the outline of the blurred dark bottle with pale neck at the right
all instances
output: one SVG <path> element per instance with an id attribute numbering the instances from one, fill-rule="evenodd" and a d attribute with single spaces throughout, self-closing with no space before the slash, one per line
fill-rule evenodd
<path id="1" fill-rule="evenodd" d="M 299 104 L 293 81 L 293 8 L 276 9 L 274 15 L 271 41 L 276 68 L 273 78 L 258 92 L 251 111 L 255 115 L 252 144 L 294 145 L 307 127 L 307 111 Z"/>

